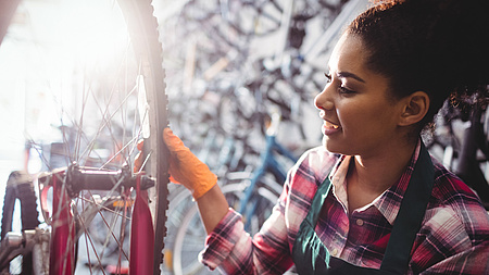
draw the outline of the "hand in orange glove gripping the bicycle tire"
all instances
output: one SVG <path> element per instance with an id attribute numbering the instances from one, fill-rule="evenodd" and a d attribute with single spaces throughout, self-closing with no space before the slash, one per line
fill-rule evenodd
<path id="1" fill-rule="evenodd" d="M 170 128 L 163 130 L 163 140 L 170 150 L 168 172 L 172 182 L 184 185 L 195 199 L 199 199 L 217 184 L 217 176 Z M 142 149 L 142 143 L 138 143 L 138 149 Z M 141 164 L 142 158 L 138 155 L 135 160 L 135 172 Z"/>

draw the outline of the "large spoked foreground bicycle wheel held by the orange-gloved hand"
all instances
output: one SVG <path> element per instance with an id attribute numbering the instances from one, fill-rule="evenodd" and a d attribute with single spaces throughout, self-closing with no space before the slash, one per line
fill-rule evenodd
<path id="1" fill-rule="evenodd" d="M 39 154 L 47 171 L 76 163 L 104 172 L 131 171 L 136 143 L 145 138 L 143 167 L 156 179 L 155 187 L 148 189 L 148 201 L 155 232 L 151 254 L 154 274 L 159 274 L 167 205 L 161 133 L 167 120 L 162 47 L 151 1 L 64 0 L 32 8 L 28 2 L 22 8 L 28 10 L 36 51 L 29 70 L 37 72 L 26 87 L 26 136 L 43 149 Z M 63 190 L 71 188 L 67 182 L 63 178 Z M 133 218 L 124 209 L 131 204 L 134 192 L 114 188 L 70 195 L 75 214 L 70 228 L 76 228 L 74 235 L 82 235 L 83 240 L 77 271 L 93 273 L 112 265 L 121 271 L 129 261 L 124 251 L 129 236 L 121 234 L 125 232 L 121 226 Z M 114 197 L 122 207 L 111 210 L 104 199 Z M 43 209 L 49 202 L 42 201 Z M 54 228 L 57 213 L 51 214 L 46 222 Z M 112 222 L 112 217 L 118 221 Z M 111 245 L 93 245 L 89 224 L 97 221 L 98 225 L 117 227 L 98 230 L 106 233 L 98 237 Z M 117 251 L 108 253 L 108 248 Z M 54 259 L 57 266 L 64 266 L 60 259 Z"/>

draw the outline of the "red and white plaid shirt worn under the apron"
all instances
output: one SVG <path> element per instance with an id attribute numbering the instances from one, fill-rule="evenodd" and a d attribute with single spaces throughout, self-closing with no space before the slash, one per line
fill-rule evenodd
<path id="1" fill-rule="evenodd" d="M 283 274 L 292 264 L 299 226 L 323 180 L 331 179 L 316 233 L 334 257 L 379 268 L 419 145 L 400 180 L 372 203 L 348 214 L 346 175 L 351 157 L 323 148 L 306 152 L 289 172 L 284 192 L 251 238 L 234 210 L 208 236 L 200 260 L 225 274 Z M 434 160 L 435 185 L 408 274 L 489 274 L 489 215 L 474 192 Z"/>

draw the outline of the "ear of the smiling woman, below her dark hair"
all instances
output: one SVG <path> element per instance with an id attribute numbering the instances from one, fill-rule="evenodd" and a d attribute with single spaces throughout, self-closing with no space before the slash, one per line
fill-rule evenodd
<path id="1" fill-rule="evenodd" d="M 404 109 L 399 121 L 400 126 L 410 126 L 418 123 L 429 109 L 429 97 L 424 91 L 416 91 L 402 99 Z"/>

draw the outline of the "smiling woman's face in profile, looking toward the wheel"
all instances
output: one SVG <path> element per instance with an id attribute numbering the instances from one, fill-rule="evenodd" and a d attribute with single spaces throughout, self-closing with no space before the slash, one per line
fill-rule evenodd
<path id="1" fill-rule="evenodd" d="M 360 37 L 343 35 L 329 60 L 330 78 L 316 96 L 324 146 L 349 155 L 379 152 L 397 136 L 403 107 L 389 96 L 388 79 L 369 71 Z"/>

